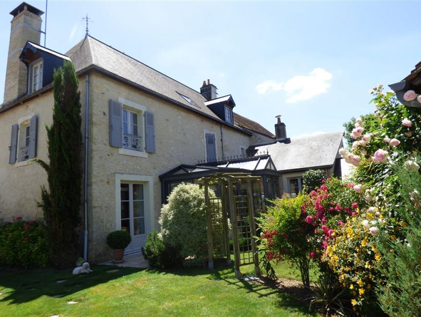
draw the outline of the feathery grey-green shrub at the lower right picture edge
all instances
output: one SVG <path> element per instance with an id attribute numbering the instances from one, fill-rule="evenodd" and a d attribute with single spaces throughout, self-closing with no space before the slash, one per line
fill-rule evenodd
<path id="1" fill-rule="evenodd" d="M 398 165 L 394 171 L 405 201 L 398 211 L 403 221 L 394 223 L 401 228 L 400 236 L 379 235 L 378 270 L 385 282 L 376 291 L 381 308 L 389 316 L 421 316 L 421 175 L 416 165 Z"/>

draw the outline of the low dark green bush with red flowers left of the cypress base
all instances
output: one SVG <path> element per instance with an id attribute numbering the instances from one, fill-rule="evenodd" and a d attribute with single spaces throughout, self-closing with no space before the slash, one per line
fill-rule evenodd
<path id="1" fill-rule="evenodd" d="M 43 226 L 21 217 L 0 224 L 0 264 L 24 268 L 45 267 L 48 247 Z"/>

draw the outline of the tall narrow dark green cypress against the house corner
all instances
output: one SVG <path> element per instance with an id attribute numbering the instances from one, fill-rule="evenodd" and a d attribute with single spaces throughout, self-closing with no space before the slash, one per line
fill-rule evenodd
<path id="1" fill-rule="evenodd" d="M 42 186 L 41 202 L 48 230 L 51 263 L 57 267 L 74 264 L 81 223 L 82 134 L 78 78 L 70 61 L 54 70 L 53 124 L 47 128 L 49 163 L 37 160 L 48 175 Z"/>

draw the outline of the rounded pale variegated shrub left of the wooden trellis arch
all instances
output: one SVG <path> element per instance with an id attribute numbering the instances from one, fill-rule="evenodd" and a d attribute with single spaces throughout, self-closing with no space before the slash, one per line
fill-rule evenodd
<path id="1" fill-rule="evenodd" d="M 214 198 L 213 191 L 209 197 Z M 205 194 L 197 184 L 181 183 L 168 196 L 159 217 L 166 247 L 177 250 L 184 266 L 203 266 L 208 257 Z"/>

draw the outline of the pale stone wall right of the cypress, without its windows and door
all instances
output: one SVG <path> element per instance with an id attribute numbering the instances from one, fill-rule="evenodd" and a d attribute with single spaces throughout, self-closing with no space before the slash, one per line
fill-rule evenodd
<path id="1" fill-rule="evenodd" d="M 150 214 L 152 229 L 158 229 L 161 184 L 158 176 L 180 164 L 196 164 L 205 159 L 205 132 L 214 133 L 217 156 L 222 155 L 221 124 L 192 111 L 164 102 L 98 73 L 90 76 L 90 167 L 89 231 L 91 261 L 109 257 L 105 236 L 119 229 L 118 184 L 116 174 L 151 176 L 153 201 Z M 108 100 L 137 103 L 155 115 L 156 153 L 147 157 L 120 154 L 121 149 L 108 144 Z M 124 104 L 124 102 L 123 102 Z M 223 125 L 224 155 L 241 155 L 240 145 L 250 144 L 250 135 Z M 117 201 L 116 201 L 117 200 Z M 117 207 L 117 208 L 116 208 Z M 118 215 L 117 215 L 118 216 Z"/>

